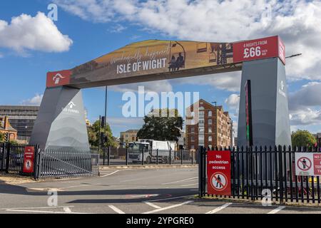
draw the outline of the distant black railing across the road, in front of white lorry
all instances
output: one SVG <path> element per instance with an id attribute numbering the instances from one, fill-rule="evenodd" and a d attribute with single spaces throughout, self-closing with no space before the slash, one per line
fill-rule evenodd
<path id="1" fill-rule="evenodd" d="M 133 150 L 121 147 L 91 147 L 101 157 L 100 165 L 193 165 L 195 150 Z"/>

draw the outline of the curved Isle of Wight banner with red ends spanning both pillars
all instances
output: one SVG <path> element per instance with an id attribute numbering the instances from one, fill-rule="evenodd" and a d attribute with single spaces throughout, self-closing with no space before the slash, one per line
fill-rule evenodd
<path id="1" fill-rule="evenodd" d="M 279 56 L 279 42 L 278 36 L 237 43 L 141 41 L 71 70 L 49 72 L 46 86 L 87 88 L 239 71 L 243 61 Z"/>

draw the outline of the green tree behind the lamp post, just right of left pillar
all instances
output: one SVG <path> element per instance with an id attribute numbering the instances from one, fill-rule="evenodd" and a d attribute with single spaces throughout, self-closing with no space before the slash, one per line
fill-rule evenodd
<path id="1" fill-rule="evenodd" d="M 88 127 L 88 140 L 91 146 L 98 147 L 100 133 L 104 133 L 103 128 L 99 125 L 99 120 L 96 120 L 91 127 Z M 113 133 L 111 133 L 111 127 L 106 123 L 106 136 L 107 142 L 103 144 L 104 147 L 116 147 L 116 141 L 113 139 Z"/>

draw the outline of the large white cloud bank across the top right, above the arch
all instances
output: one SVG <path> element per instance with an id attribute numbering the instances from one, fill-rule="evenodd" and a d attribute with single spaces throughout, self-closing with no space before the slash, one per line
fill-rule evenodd
<path id="1" fill-rule="evenodd" d="M 291 79 L 321 79 L 321 1 L 312 0 L 56 0 L 88 21 L 129 21 L 179 39 L 239 41 L 279 34 Z M 219 82 L 218 82 L 219 83 Z"/>

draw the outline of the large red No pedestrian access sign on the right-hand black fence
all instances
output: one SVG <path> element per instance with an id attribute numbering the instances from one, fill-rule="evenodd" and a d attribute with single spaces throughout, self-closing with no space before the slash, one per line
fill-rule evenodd
<path id="1" fill-rule="evenodd" d="M 208 194 L 230 195 L 230 150 L 208 151 Z"/>

